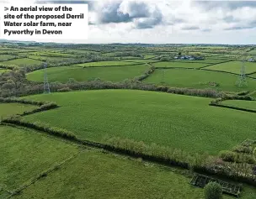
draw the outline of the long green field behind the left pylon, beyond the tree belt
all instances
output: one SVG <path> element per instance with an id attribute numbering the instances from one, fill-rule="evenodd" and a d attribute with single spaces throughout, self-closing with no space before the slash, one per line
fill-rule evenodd
<path id="1" fill-rule="evenodd" d="M 141 76 L 149 65 L 128 65 L 122 67 L 74 67 L 64 66 L 48 68 L 47 75 L 49 81 L 67 82 L 69 78 L 76 81 L 90 81 L 100 78 L 103 81 L 123 81 Z M 34 71 L 27 75 L 29 81 L 44 81 L 44 71 Z"/>

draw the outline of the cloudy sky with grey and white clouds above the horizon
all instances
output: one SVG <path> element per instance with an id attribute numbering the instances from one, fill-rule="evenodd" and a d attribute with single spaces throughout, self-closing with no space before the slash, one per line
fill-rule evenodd
<path id="1" fill-rule="evenodd" d="M 256 1 L 98 0 L 88 3 L 88 39 L 56 42 L 256 44 Z"/>

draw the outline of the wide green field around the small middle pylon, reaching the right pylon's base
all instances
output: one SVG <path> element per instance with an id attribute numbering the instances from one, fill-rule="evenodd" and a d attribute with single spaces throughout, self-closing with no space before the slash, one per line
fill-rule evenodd
<path id="1" fill-rule="evenodd" d="M 164 79 L 163 79 L 164 78 Z M 256 80 L 247 78 L 248 87 L 239 88 L 236 86 L 238 76 L 217 72 L 217 71 L 204 71 L 204 70 L 189 70 L 189 69 L 157 69 L 151 76 L 147 77 L 144 81 L 148 83 L 163 84 L 178 87 L 190 88 L 210 88 L 215 90 L 239 92 L 243 90 L 253 91 L 256 87 Z M 210 86 L 208 82 L 217 82 L 219 86 Z"/>

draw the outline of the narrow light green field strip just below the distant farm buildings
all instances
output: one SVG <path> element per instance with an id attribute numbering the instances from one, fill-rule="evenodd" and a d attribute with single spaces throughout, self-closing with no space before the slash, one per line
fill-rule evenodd
<path id="1" fill-rule="evenodd" d="M 207 64 L 200 64 L 200 63 L 184 63 L 179 61 L 161 61 L 157 63 L 153 63 L 155 67 L 166 67 L 166 68 L 200 68 Z"/>

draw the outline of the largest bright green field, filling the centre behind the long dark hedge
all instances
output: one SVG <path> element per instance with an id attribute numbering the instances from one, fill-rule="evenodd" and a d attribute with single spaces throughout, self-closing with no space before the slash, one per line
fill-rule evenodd
<path id="1" fill-rule="evenodd" d="M 66 128 L 80 139 L 101 142 L 105 135 L 120 136 L 211 154 L 231 149 L 244 139 L 255 139 L 254 113 L 211 107 L 211 99 L 205 97 L 104 90 L 29 98 L 57 102 L 61 107 L 24 120 Z"/>

